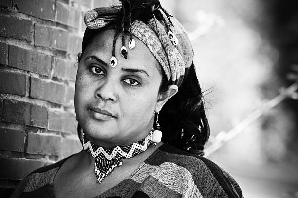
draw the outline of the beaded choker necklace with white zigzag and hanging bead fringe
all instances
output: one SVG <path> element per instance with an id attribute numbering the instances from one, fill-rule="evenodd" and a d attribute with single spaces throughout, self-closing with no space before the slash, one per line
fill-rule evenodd
<path id="1" fill-rule="evenodd" d="M 152 131 L 149 135 L 141 141 L 135 142 L 128 146 L 116 146 L 112 148 L 105 148 L 97 146 L 89 141 L 84 132 L 82 132 L 83 148 L 93 158 L 95 158 L 95 175 L 97 183 L 101 183 L 102 180 L 109 175 L 115 167 L 122 165 L 121 159 L 129 159 L 145 151 L 152 143 Z"/>

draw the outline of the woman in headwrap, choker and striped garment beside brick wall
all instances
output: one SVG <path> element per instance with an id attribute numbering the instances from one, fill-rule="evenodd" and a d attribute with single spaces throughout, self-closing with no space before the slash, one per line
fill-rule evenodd
<path id="1" fill-rule="evenodd" d="M 75 113 L 83 150 L 37 169 L 12 197 L 242 197 L 201 157 L 209 138 L 190 41 L 158 0 L 86 13 Z"/>

